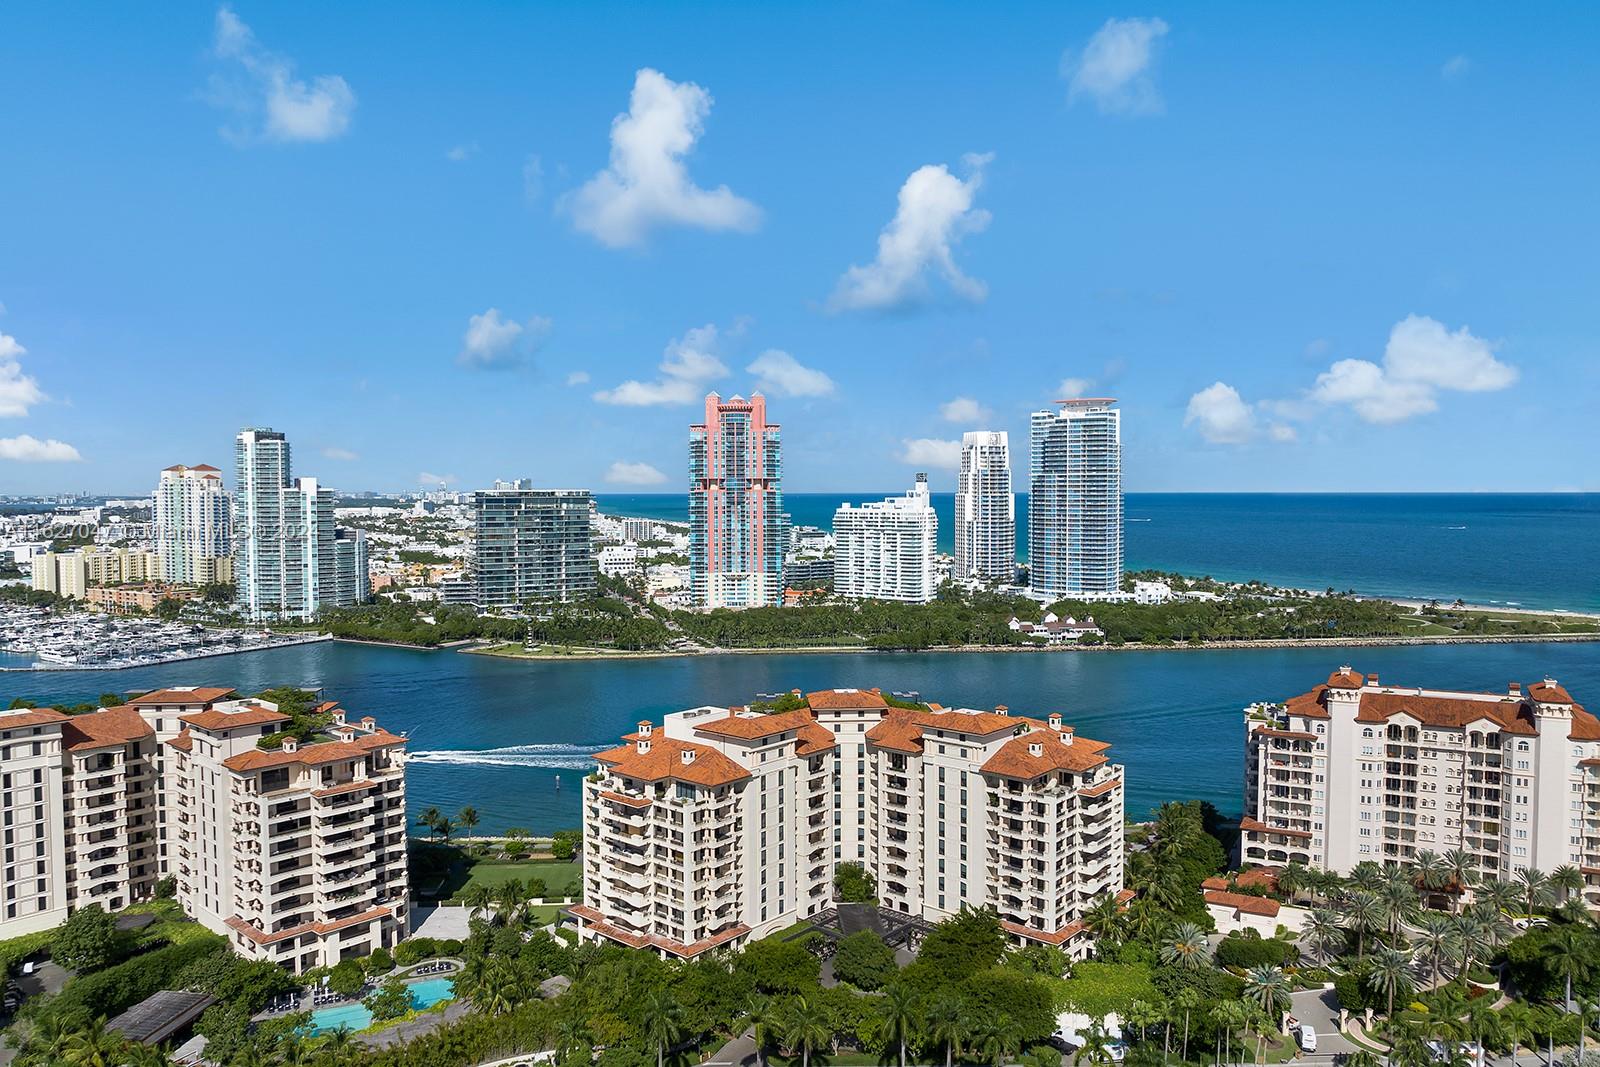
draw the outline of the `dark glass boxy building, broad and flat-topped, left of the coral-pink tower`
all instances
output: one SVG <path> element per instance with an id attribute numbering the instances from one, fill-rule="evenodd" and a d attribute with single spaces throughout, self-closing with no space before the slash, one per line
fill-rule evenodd
<path id="1" fill-rule="evenodd" d="M 528 478 L 496 482 L 474 494 L 474 601 L 520 608 L 571 601 L 595 592 L 587 490 L 536 490 Z"/>

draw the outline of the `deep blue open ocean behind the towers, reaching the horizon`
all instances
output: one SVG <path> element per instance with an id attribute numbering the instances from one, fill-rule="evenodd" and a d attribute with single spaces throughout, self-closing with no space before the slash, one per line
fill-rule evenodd
<path id="1" fill-rule="evenodd" d="M 891 493 L 787 493 L 795 525 Z M 597 496 L 603 512 L 688 522 L 685 494 Z M 934 493 L 939 547 L 954 550 L 955 494 Z M 1018 494 L 1027 558 L 1027 494 Z M 1224 581 L 1378 597 L 1600 611 L 1597 493 L 1128 493 L 1125 565 Z"/>

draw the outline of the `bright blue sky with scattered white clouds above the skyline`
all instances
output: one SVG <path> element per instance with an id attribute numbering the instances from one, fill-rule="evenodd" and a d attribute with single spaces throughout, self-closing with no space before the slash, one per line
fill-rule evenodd
<path id="1" fill-rule="evenodd" d="M 1597 490 L 1592 5 L 0 8 L 0 493 Z M 754 370 L 750 370 L 754 368 Z"/>

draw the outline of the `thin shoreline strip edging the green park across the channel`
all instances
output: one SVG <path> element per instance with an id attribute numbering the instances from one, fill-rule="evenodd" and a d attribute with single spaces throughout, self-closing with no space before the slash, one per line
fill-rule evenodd
<path id="1" fill-rule="evenodd" d="M 1528 645 L 1528 643 L 1584 643 L 1600 641 L 1595 633 L 1485 633 L 1485 635 L 1430 635 L 1430 637 L 1350 637 L 1350 638 L 1272 638 L 1251 641 L 1202 641 L 1198 645 L 939 645 L 934 648 L 872 648 L 869 645 L 800 645 L 794 648 L 707 648 L 701 651 L 603 651 L 581 649 L 570 653 L 515 653 L 488 648 L 462 648 L 470 656 L 496 659 L 522 659 L 531 662 L 584 662 L 619 659 L 691 659 L 696 656 L 829 656 L 829 654 L 882 654 L 922 656 L 930 653 L 986 654 L 1061 654 L 1061 653 L 1206 653 L 1206 651 L 1259 651 L 1275 648 L 1384 648 L 1405 645 Z"/>

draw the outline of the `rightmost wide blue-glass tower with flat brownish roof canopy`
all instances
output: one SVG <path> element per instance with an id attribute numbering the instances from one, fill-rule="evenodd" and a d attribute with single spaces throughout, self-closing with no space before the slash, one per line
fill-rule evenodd
<path id="1" fill-rule="evenodd" d="M 1122 590 L 1122 413 L 1061 400 L 1029 434 L 1027 566 L 1035 595 Z"/>

